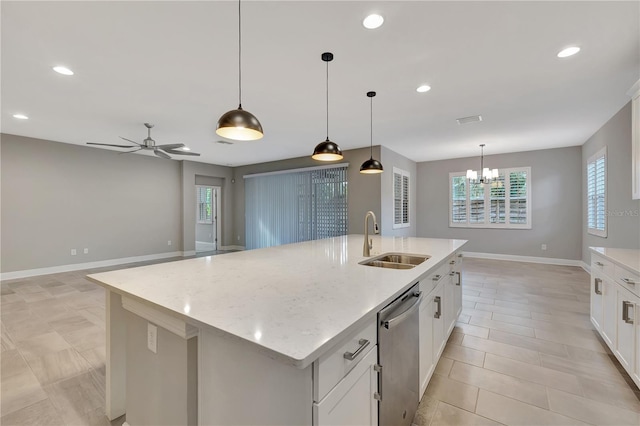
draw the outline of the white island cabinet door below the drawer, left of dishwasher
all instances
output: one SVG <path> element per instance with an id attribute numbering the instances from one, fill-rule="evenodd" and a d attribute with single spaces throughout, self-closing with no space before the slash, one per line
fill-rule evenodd
<path id="1" fill-rule="evenodd" d="M 347 374 L 319 403 L 313 404 L 313 424 L 316 426 L 377 426 L 378 373 L 377 346 Z"/>

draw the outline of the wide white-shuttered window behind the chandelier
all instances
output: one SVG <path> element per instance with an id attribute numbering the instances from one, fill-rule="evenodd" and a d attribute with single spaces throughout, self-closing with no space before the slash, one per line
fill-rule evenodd
<path id="1" fill-rule="evenodd" d="M 531 228 L 531 167 L 501 169 L 490 184 L 449 174 L 449 226 Z"/>

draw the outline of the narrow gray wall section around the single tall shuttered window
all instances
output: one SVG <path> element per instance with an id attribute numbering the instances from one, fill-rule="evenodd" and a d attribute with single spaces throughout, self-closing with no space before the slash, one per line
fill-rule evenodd
<path id="1" fill-rule="evenodd" d="M 381 233 L 384 236 L 415 237 L 417 235 L 417 164 L 413 160 L 381 147 L 380 162 L 384 167 L 381 175 Z M 397 167 L 409 172 L 409 224 L 406 228 L 393 229 L 393 168 Z"/>

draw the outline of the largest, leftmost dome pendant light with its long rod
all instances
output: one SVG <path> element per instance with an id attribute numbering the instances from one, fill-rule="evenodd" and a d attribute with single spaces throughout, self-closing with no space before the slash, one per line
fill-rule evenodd
<path id="1" fill-rule="evenodd" d="M 238 0 L 238 109 L 226 112 L 218 120 L 216 133 L 236 141 L 253 141 L 264 136 L 262 125 L 249 111 L 242 109 L 242 15 Z"/>

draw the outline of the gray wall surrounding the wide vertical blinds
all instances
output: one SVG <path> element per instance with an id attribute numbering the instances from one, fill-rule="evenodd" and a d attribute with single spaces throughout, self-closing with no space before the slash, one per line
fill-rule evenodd
<path id="1" fill-rule="evenodd" d="M 380 175 L 364 175 L 360 173 L 360 165 L 369 159 L 369 148 L 344 151 L 344 159 L 336 163 L 349 163 L 347 179 L 349 189 L 347 204 L 349 209 L 349 234 L 362 234 L 364 231 L 364 215 L 368 210 L 373 211 L 378 218 L 380 215 Z M 380 147 L 373 147 L 374 158 L 380 158 Z M 279 170 L 298 169 L 303 167 L 322 166 L 323 163 L 313 160 L 311 156 L 291 158 L 289 160 L 273 161 L 270 163 L 252 164 L 234 169 L 235 210 L 234 217 L 236 238 L 235 244 L 245 245 L 244 224 L 244 175 L 264 173 Z M 384 174 L 384 173 L 383 173 Z"/>

